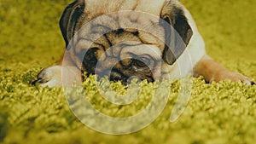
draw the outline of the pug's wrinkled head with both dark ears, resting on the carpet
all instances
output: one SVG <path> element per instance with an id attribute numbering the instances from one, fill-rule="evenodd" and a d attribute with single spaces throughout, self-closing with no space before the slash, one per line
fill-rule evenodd
<path id="1" fill-rule="evenodd" d="M 183 54 L 192 37 L 178 3 L 166 1 L 158 15 L 141 9 L 119 11 L 120 6 L 90 8 L 96 6 L 91 3 L 71 3 L 60 20 L 69 60 L 84 72 L 123 83 L 132 76 L 152 82 L 168 75 L 166 67 Z"/>

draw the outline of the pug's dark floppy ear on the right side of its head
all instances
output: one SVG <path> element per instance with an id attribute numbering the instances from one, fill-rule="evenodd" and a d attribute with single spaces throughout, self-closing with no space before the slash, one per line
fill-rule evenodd
<path id="1" fill-rule="evenodd" d="M 172 65 L 183 54 L 190 38 L 193 35 L 183 9 L 171 1 L 167 1 L 161 11 L 160 23 L 166 32 L 166 48 L 163 51 L 163 60 Z"/>

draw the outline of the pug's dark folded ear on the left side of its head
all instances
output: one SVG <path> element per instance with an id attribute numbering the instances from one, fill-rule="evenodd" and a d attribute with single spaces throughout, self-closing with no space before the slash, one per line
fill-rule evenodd
<path id="1" fill-rule="evenodd" d="M 76 0 L 69 4 L 61 15 L 60 27 L 61 33 L 66 42 L 66 48 L 68 43 L 73 38 L 76 24 L 80 16 L 84 13 L 84 0 Z"/>

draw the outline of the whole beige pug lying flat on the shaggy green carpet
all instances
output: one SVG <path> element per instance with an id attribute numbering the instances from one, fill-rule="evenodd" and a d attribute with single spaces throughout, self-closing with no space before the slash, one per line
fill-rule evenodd
<path id="1" fill-rule="evenodd" d="M 63 78 L 80 81 L 84 72 L 123 84 L 189 73 L 208 83 L 254 84 L 206 54 L 195 21 L 177 0 L 76 0 L 64 10 L 60 27 L 66 42 L 61 63 L 39 72 L 32 84 L 61 86 Z"/>

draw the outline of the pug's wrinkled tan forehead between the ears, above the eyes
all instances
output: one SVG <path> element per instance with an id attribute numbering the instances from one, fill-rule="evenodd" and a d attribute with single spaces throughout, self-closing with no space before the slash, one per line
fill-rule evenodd
<path id="1" fill-rule="evenodd" d="M 93 20 L 84 20 L 73 39 L 75 46 L 82 49 L 100 46 L 106 50 L 127 42 L 136 42 L 137 45 L 144 43 L 147 46 L 144 45 L 143 48 L 155 47 L 163 51 L 165 30 L 160 26 L 160 18 L 137 11 L 103 14 Z M 126 44 L 126 47 L 129 45 L 131 44 Z"/>

